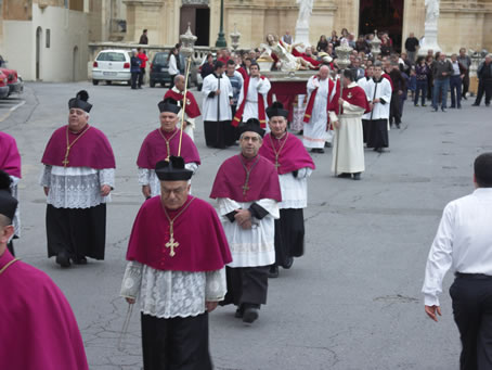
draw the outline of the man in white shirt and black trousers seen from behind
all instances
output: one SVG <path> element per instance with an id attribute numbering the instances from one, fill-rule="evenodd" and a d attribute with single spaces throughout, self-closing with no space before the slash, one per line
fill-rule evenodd
<path id="1" fill-rule="evenodd" d="M 492 369 L 492 153 L 479 155 L 474 168 L 477 189 L 444 208 L 422 292 L 426 314 L 438 321 L 438 294 L 453 267 L 450 295 L 463 345 L 461 369 Z"/>

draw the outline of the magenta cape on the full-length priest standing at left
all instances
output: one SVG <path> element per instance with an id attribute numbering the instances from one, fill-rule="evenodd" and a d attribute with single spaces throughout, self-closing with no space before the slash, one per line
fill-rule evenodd
<path id="1" fill-rule="evenodd" d="M 44 165 L 64 166 L 62 162 L 66 153 L 66 129 L 67 126 L 63 126 L 51 136 L 41 160 Z M 69 142 L 74 142 L 81 132 L 68 132 Z M 116 168 L 113 149 L 106 136 L 90 126 L 89 130 L 72 146 L 67 167 Z"/>

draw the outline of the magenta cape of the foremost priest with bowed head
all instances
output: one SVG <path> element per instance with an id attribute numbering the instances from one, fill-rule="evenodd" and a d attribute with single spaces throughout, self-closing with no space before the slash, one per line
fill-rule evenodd
<path id="1" fill-rule="evenodd" d="M 169 221 L 164 213 L 160 196 L 145 201 L 140 207 L 128 243 L 127 259 L 137 260 L 157 270 L 213 271 L 232 261 L 228 240 L 217 212 L 205 201 L 191 195 L 179 209 L 169 210 L 172 219 L 189 203 L 189 207 L 174 219 L 174 240 L 179 246 L 169 255 Z"/>

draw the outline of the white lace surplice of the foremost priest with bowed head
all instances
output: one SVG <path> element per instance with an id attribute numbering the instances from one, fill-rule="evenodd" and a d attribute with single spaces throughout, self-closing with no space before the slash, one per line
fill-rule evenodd
<path id="1" fill-rule="evenodd" d="M 205 302 L 222 301 L 225 268 L 207 272 L 163 271 L 129 261 L 120 295 L 139 297 L 140 309 L 158 318 L 190 317 L 205 312 Z"/>

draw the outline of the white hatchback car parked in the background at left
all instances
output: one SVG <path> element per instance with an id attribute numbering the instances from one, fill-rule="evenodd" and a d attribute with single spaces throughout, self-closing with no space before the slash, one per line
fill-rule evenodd
<path id="1" fill-rule="evenodd" d="M 131 82 L 130 54 L 126 50 L 102 50 L 92 64 L 92 84 L 99 81 Z"/>

